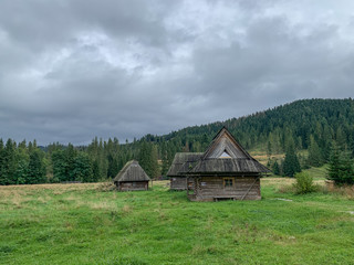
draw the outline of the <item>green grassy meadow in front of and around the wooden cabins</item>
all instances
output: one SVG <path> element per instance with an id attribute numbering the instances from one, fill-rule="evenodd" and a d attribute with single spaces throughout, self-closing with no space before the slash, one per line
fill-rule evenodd
<path id="1" fill-rule="evenodd" d="M 278 192 L 292 181 L 264 178 L 261 201 L 217 203 L 166 181 L 0 187 L 0 264 L 354 264 L 353 199 Z"/>

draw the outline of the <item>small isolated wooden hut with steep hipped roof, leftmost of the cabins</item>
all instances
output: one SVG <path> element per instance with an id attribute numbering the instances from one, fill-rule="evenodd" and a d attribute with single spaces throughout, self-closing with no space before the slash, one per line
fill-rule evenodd
<path id="1" fill-rule="evenodd" d="M 128 161 L 114 178 L 118 191 L 148 190 L 150 178 L 136 160 Z"/>

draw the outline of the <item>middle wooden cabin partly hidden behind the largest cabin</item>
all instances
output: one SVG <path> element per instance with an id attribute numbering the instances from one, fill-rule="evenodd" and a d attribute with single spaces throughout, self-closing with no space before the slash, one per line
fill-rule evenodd
<path id="1" fill-rule="evenodd" d="M 202 152 L 177 152 L 174 161 L 168 169 L 167 177 L 169 177 L 170 190 L 187 190 L 186 173 L 202 156 Z M 192 181 L 189 182 L 189 188 Z"/>

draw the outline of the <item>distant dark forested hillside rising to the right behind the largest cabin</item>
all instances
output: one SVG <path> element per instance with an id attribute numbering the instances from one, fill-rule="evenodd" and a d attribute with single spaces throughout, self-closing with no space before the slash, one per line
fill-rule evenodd
<path id="1" fill-rule="evenodd" d="M 171 141 L 179 150 L 202 151 L 222 126 L 227 126 L 247 149 L 283 152 L 289 141 L 293 141 L 298 149 L 308 149 L 313 137 L 322 149 L 329 148 L 329 142 L 335 140 L 352 150 L 354 100 L 302 99 L 240 118 L 187 127 L 159 137 L 147 135 L 143 140 L 158 145 Z"/>

